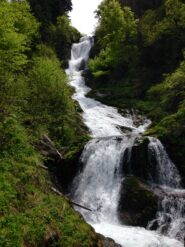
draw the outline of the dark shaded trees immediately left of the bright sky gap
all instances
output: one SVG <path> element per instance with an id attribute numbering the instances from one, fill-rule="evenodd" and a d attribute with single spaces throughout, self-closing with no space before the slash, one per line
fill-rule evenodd
<path id="1" fill-rule="evenodd" d="M 80 33 L 71 26 L 68 12 L 72 10 L 71 0 L 29 0 L 35 17 L 40 22 L 40 38 L 52 47 L 63 67 L 67 66 L 71 44 L 79 40 Z"/>

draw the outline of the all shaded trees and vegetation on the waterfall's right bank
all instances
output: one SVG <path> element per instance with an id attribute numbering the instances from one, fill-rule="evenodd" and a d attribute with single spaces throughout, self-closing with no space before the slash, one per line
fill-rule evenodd
<path id="1" fill-rule="evenodd" d="M 90 95 L 151 118 L 146 134 L 161 139 L 185 178 L 185 3 L 120 2 L 104 0 L 97 11 Z"/>

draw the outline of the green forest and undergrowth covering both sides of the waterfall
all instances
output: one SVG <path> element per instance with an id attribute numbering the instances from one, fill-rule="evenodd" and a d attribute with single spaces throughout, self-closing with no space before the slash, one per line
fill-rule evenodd
<path id="1" fill-rule="evenodd" d="M 82 36 L 71 10 L 71 0 L 0 0 L 2 247 L 119 246 L 51 190 L 65 192 L 91 139 L 65 73 Z M 145 135 L 163 142 L 185 182 L 185 1 L 103 0 L 96 18 L 88 96 L 151 119 Z"/>

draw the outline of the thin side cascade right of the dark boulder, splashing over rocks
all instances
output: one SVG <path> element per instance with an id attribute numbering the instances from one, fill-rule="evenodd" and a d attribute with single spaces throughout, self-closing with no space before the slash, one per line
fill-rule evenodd
<path id="1" fill-rule="evenodd" d="M 153 137 L 149 140 L 150 162 L 152 163 L 155 159 L 157 163 L 155 174 L 157 184 L 165 195 L 159 202 L 156 219 L 149 222 L 148 229 L 156 228 L 159 233 L 183 242 L 185 238 L 185 190 L 181 189 L 179 172 L 162 143 Z"/>

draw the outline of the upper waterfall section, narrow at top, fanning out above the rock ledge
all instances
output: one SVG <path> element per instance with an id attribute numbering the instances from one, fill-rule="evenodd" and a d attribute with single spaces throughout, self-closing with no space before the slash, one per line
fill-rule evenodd
<path id="1" fill-rule="evenodd" d="M 122 127 L 130 128 L 136 132 L 144 132 L 151 123 L 147 120 L 142 126 L 136 128 L 131 117 L 123 117 L 114 107 L 106 106 L 100 102 L 86 97 L 91 90 L 85 85 L 82 70 L 85 68 L 93 39 L 83 37 L 80 43 L 73 44 L 69 68 L 66 70 L 70 76 L 70 85 L 75 88 L 73 99 L 77 100 L 83 110 L 84 123 L 89 128 L 92 137 L 107 137 L 122 135 Z"/>

